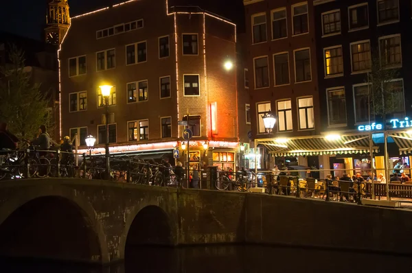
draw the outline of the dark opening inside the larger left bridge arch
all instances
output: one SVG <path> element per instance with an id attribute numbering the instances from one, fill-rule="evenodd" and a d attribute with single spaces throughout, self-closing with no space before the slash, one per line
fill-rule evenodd
<path id="1" fill-rule="evenodd" d="M 98 235 L 89 216 L 66 198 L 26 202 L 0 226 L 0 255 L 69 261 L 101 261 Z"/>

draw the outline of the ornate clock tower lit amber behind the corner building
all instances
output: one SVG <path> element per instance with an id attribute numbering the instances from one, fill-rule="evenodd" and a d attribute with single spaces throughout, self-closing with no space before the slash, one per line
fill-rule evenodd
<path id="1" fill-rule="evenodd" d="M 67 0 L 48 0 L 45 28 L 46 43 L 60 45 L 70 26 L 69 3 Z"/>

